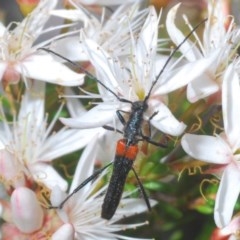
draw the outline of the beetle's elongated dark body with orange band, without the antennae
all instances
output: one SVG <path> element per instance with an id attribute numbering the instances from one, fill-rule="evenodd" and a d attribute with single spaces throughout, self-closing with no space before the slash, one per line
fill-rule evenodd
<path id="1" fill-rule="evenodd" d="M 102 218 L 111 219 L 119 205 L 126 178 L 138 153 L 137 143 L 142 138 L 143 114 L 146 109 L 145 101 L 133 102 L 127 122 L 118 112 L 118 117 L 124 125 L 124 138 L 117 142 L 113 172 L 102 205 Z"/>

